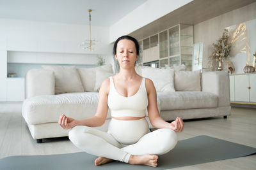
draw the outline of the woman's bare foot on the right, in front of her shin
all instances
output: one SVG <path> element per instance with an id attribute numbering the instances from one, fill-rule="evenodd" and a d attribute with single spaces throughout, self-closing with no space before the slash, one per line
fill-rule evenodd
<path id="1" fill-rule="evenodd" d="M 131 155 L 128 163 L 156 167 L 157 159 L 158 159 L 157 155 L 150 155 L 150 154 L 145 154 L 141 156 Z"/>

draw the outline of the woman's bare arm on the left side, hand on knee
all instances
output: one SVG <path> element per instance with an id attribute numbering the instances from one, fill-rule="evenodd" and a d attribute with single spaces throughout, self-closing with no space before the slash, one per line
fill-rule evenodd
<path id="1" fill-rule="evenodd" d="M 99 90 L 99 102 L 97 106 L 97 111 L 94 117 L 86 118 L 84 120 L 75 120 L 74 118 L 66 117 L 61 115 L 59 118 L 59 124 L 63 129 L 70 129 L 76 125 L 86 125 L 89 127 L 98 127 L 104 124 L 106 117 L 108 115 L 108 92 L 109 92 L 110 82 L 109 78 L 102 82 Z"/>

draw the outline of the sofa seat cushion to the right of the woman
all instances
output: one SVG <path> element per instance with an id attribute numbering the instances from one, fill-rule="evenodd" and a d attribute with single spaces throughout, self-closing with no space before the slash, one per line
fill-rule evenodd
<path id="1" fill-rule="evenodd" d="M 218 96 L 209 92 L 157 92 L 162 110 L 216 108 Z"/>

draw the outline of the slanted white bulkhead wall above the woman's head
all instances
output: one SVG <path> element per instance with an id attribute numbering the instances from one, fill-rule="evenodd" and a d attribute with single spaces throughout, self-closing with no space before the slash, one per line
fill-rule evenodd
<path id="1" fill-rule="evenodd" d="M 148 0 L 109 28 L 109 42 L 127 35 L 193 0 Z M 124 6 L 125 8 L 125 6 Z"/>

